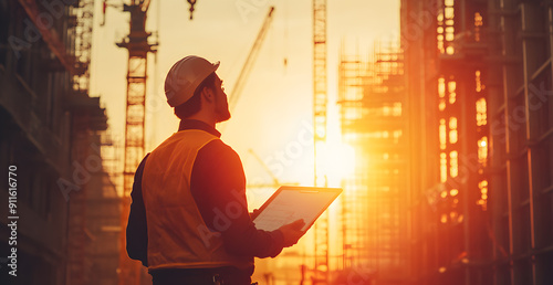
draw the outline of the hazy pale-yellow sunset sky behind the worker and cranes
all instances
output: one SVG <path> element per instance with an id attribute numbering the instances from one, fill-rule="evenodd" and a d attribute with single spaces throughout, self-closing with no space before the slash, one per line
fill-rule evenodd
<path id="1" fill-rule="evenodd" d="M 96 2 L 91 95 L 101 96 L 114 139 L 121 141 L 128 54 L 115 42 L 128 33 L 128 14 L 109 7 L 105 25 L 100 27 L 103 17 L 101 1 Z M 163 91 L 170 66 L 190 54 L 220 61 L 217 73 L 230 94 L 271 6 L 275 7 L 272 24 L 232 118 L 218 128 L 221 139 L 240 155 L 250 184 L 272 182 L 250 149 L 280 183 L 313 184 L 312 1 L 198 0 L 190 21 L 186 0 L 152 0 L 147 29 L 157 34 L 159 46 L 148 59 L 146 152 L 178 128 Z M 397 41 L 398 34 L 399 0 L 327 1 L 330 140 L 340 140 L 335 104 L 340 52 L 371 60 L 376 41 Z M 340 151 L 332 154 L 328 159 L 335 166 L 348 162 Z M 260 204 L 265 198 L 253 194 L 249 202 Z"/>

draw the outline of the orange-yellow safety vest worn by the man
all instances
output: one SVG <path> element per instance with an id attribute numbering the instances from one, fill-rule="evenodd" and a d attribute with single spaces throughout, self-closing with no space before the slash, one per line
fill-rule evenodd
<path id="1" fill-rule="evenodd" d="M 198 129 L 174 134 L 149 155 L 142 180 L 148 226 L 148 268 L 252 265 L 227 253 L 220 233 L 208 230 L 190 192 L 194 161 L 218 137 Z"/>

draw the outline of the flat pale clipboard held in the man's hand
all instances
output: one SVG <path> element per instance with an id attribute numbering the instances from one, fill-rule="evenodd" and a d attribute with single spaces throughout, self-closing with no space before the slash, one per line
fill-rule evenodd
<path id="1" fill-rule="evenodd" d="M 303 219 L 303 231 L 342 193 L 341 188 L 283 186 L 276 190 L 252 217 L 255 228 L 274 231 L 284 224 Z"/>

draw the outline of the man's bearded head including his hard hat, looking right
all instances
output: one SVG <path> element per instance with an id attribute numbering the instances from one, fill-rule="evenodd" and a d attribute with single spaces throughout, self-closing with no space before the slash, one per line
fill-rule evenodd
<path id="1" fill-rule="evenodd" d="M 180 119 L 200 116 L 216 123 L 230 118 L 222 81 L 211 64 L 199 56 L 186 56 L 169 70 L 165 80 L 167 102 Z"/>

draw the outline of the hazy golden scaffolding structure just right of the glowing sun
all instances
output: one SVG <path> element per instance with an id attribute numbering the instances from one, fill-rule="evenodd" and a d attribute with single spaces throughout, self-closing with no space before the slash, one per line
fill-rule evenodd
<path id="1" fill-rule="evenodd" d="M 342 54 L 338 71 L 342 135 L 356 159 L 355 172 L 343 181 L 343 268 L 403 284 L 408 221 L 403 54 L 392 43 L 377 44 L 374 62 Z"/>

